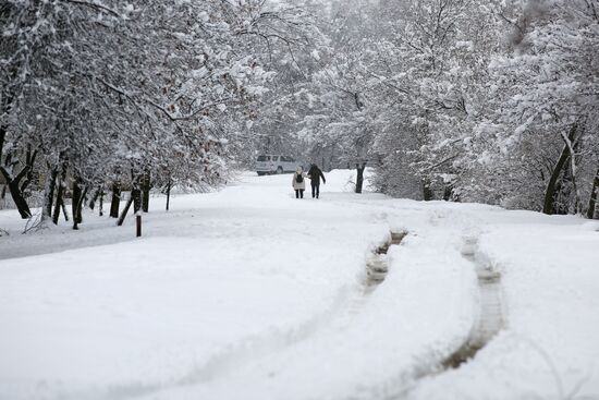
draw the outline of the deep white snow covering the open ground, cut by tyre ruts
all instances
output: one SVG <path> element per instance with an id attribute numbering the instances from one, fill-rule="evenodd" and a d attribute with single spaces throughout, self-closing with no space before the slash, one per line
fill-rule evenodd
<path id="1" fill-rule="evenodd" d="M 357 195 L 352 174 L 320 199 L 250 173 L 155 197 L 140 239 L 89 214 L 22 235 L 0 211 L 0 400 L 599 399 L 597 221 Z M 485 318 L 477 268 L 501 330 L 444 368 Z"/>

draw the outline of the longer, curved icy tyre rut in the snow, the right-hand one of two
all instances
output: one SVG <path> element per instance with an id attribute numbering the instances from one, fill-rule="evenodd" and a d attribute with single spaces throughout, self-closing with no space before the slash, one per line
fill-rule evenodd
<path id="1" fill-rule="evenodd" d="M 477 252 L 476 238 L 466 238 L 462 255 L 474 264 L 480 290 L 480 312 L 468 340 L 443 362 L 445 368 L 457 368 L 473 359 L 502 328 L 504 324 L 501 274 Z"/>

